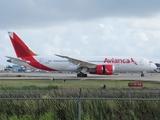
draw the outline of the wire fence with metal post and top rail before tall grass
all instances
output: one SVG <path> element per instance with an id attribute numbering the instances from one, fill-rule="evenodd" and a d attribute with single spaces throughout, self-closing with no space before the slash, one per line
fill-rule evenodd
<path id="1" fill-rule="evenodd" d="M 159 108 L 160 98 L 0 98 L 0 119 L 159 120 Z"/>

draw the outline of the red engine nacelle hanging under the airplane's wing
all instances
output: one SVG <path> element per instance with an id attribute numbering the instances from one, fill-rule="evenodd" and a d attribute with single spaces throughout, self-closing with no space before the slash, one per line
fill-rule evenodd
<path id="1" fill-rule="evenodd" d="M 113 65 L 97 65 L 95 68 L 95 72 L 91 72 L 91 74 L 98 74 L 98 75 L 112 75 L 115 71 Z"/>

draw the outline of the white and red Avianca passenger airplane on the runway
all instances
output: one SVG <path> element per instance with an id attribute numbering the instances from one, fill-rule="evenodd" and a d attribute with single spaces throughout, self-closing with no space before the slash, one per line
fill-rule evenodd
<path id="1" fill-rule="evenodd" d="M 8 32 L 17 58 L 6 56 L 8 62 L 47 71 L 74 71 L 77 77 L 87 77 L 87 73 L 113 75 L 115 72 L 144 73 L 156 69 L 156 65 L 141 57 L 132 56 L 87 56 L 70 57 L 59 54 L 40 56 L 33 52 L 15 32 Z"/>

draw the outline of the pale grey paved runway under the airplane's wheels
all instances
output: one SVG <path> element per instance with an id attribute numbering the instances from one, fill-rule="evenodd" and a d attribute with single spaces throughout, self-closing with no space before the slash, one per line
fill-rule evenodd
<path id="1" fill-rule="evenodd" d="M 160 82 L 160 73 L 146 73 L 144 77 L 140 73 L 119 73 L 116 75 L 94 75 L 77 77 L 76 73 L 0 73 L 0 80 L 4 79 L 55 79 L 55 80 L 136 80 Z"/>

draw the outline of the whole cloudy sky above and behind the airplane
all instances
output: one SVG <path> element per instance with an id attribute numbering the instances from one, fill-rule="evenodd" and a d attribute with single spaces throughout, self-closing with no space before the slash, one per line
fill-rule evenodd
<path id="1" fill-rule="evenodd" d="M 8 31 L 39 55 L 138 56 L 160 63 L 159 0 L 0 0 L 0 65 Z"/>

